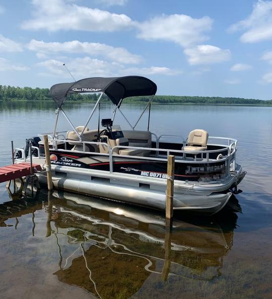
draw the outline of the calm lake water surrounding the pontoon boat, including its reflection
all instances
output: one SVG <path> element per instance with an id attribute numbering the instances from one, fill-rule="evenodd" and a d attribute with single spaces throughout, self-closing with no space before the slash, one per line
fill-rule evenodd
<path id="1" fill-rule="evenodd" d="M 78 126 L 92 107 L 65 110 Z M 54 109 L 0 103 L 0 166 L 11 163 L 11 140 L 19 147 L 53 130 Z M 121 108 L 131 123 L 142 109 Z M 102 105 L 101 117 L 111 116 L 112 106 Z M 97 121 L 96 115 L 89 127 Z M 120 114 L 115 123 L 129 128 Z M 147 113 L 137 128 L 147 128 Z M 45 190 L 11 202 L 0 184 L 0 297 L 271 298 L 272 108 L 152 107 L 154 133 L 186 138 L 195 128 L 238 139 L 237 161 L 247 175 L 222 213 L 176 214 L 170 235 L 158 212 L 61 192 L 48 203 Z M 67 129 L 61 118 L 58 130 Z"/>

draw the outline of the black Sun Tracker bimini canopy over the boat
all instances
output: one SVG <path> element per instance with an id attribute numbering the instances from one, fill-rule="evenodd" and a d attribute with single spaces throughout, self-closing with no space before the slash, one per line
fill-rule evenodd
<path id="1" fill-rule="evenodd" d="M 154 95 L 157 85 L 141 76 L 125 76 L 113 78 L 86 78 L 73 83 L 59 83 L 50 88 L 52 98 L 61 108 L 70 93 L 104 92 L 114 105 L 128 96 Z"/>

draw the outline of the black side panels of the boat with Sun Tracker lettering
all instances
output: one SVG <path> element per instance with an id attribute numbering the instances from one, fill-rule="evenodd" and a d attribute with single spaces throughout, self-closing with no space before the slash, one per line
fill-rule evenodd
<path id="1" fill-rule="evenodd" d="M 86 154 L 80 152 L 50 151 L 50 160 L 53 165 L 70 166 L 76 168 L 86 168 L 94 170 L 109 171 L 109 157 L 97 154 Z M 113 171 L 118 173 L 128 173 L 146 177 L 166 178 L 167 162 L 141 160 L 137 157 L 113 157 Z M 190 181 L 218 181 L 225 179 L 225 162 L 213 164 L 201 163 L 175 164 L 175 179 Z"/>

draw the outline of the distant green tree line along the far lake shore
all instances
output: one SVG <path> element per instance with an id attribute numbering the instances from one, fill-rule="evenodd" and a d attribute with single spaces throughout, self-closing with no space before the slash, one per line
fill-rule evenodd
<path id="1" fill-rule="evenodd" d="M 69 101 L 90 101 L 94 102 L 98 99 L 98 94 L 70 94 Z M 134 96 L 125 99 L 124 103 L 147 103 L 150 97 Z M 31 88 L 31 87 L 14 87 L 0 85 L 0 101 L 52 101 L 48 88 Z M 109 98 L 103 95 L 102 101 L 108 102 Z M 219 97 L 219 96 L 187 96 L 187 95 L 155 95 L 153 103 L 158 104 L 216 104 L 216 105 L 272 105 L 272 99 L 261 100 L 254 98 L 242 97 Z"/>

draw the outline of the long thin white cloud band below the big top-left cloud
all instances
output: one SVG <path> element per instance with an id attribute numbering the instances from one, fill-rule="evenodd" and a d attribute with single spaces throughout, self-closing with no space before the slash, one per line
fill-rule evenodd
<path id="1" fill-rule="evenodd" d="M 27 45 L 31 51 L 37 52 L 38 58 L 44 59 L 48 55 L 56 53 L 83 53 L 92 56 L 100 56 L 112 61 L 125 64 L 138 64 L 142 58 L 139 55 L 129 53 L 125 48 L 113 47 L 97 42 L 81 42 L 79 40 L 66 42 L 44 42 L 32 39 Z"/>

